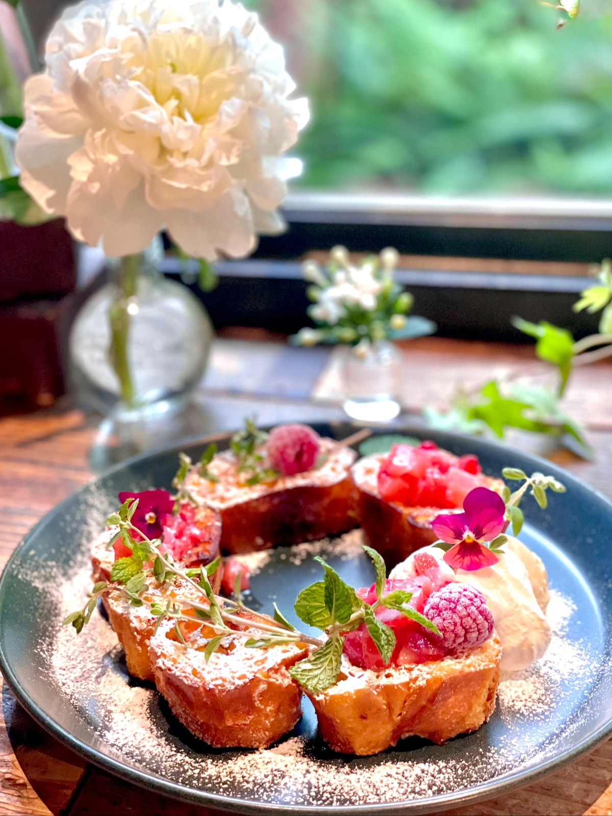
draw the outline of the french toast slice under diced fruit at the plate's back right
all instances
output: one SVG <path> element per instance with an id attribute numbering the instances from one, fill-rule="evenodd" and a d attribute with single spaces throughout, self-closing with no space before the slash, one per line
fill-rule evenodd
<path id="1" fill-rule="evenodd" d="M 372 454 L 359 459 L 351 468 L 351 478 L 357 491 L 357 517 L 365 542 L 375 548 L 388 566 L 405 561 L 415 550 L 437 541 L 432 521 L 441 512 L 452 509 L 432 507 L 405 507 L 383 499 L 378 489 L 380 465 L 387 454 Z M 501 479 L 482 475 L 482 486 L 501 493 Z M 457 512 L 463 512 L 457 508 Z"/>

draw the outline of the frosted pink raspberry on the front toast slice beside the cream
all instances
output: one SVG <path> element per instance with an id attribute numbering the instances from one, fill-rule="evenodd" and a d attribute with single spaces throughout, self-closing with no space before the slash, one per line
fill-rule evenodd
<path id="1" fill-rule="evenodd" d="M 424 615 L 440 630 L 444 648 L 455 654 L 480 646 L 493 633 L 486 597 L 467 583 L 449 583 L 433 592 Z"/>

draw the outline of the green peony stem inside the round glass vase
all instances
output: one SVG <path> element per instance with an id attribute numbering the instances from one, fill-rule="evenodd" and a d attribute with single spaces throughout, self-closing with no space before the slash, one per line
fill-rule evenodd
<path id="1" fill-rule="evenodd" d="M 136 294 L 140 273 L 140 255 L 126 255 L 119 269 L 119 295 L 110 307 L 109 319 L 111 344 L 109 357 L 119 380 L 122 400 L 127 406 L 134 405 L 134 379 L 132 378 L 128 340 L 131 317 L 128 311 L 130 299 Z"/>

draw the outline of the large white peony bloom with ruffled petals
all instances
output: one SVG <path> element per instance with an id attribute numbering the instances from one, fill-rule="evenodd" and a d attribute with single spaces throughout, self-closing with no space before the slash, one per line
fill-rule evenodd
<path id="1" fill-rule="evenodd" d="M 230 0 L 84 0 L 25 86 L 21 184 L 109 255 L 165 227 L 188 255 L 242 256 L 282 228 L 282 153 L 308 121 L 282 47 Z"/>

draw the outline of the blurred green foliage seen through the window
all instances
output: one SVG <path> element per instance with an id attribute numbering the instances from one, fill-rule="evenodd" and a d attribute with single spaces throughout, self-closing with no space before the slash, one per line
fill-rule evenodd
<path id="1" fill-rule="evenodd" d="M 313 119 L 298 184 L 612 192 L 612 3 L 250 0 Z"/>

